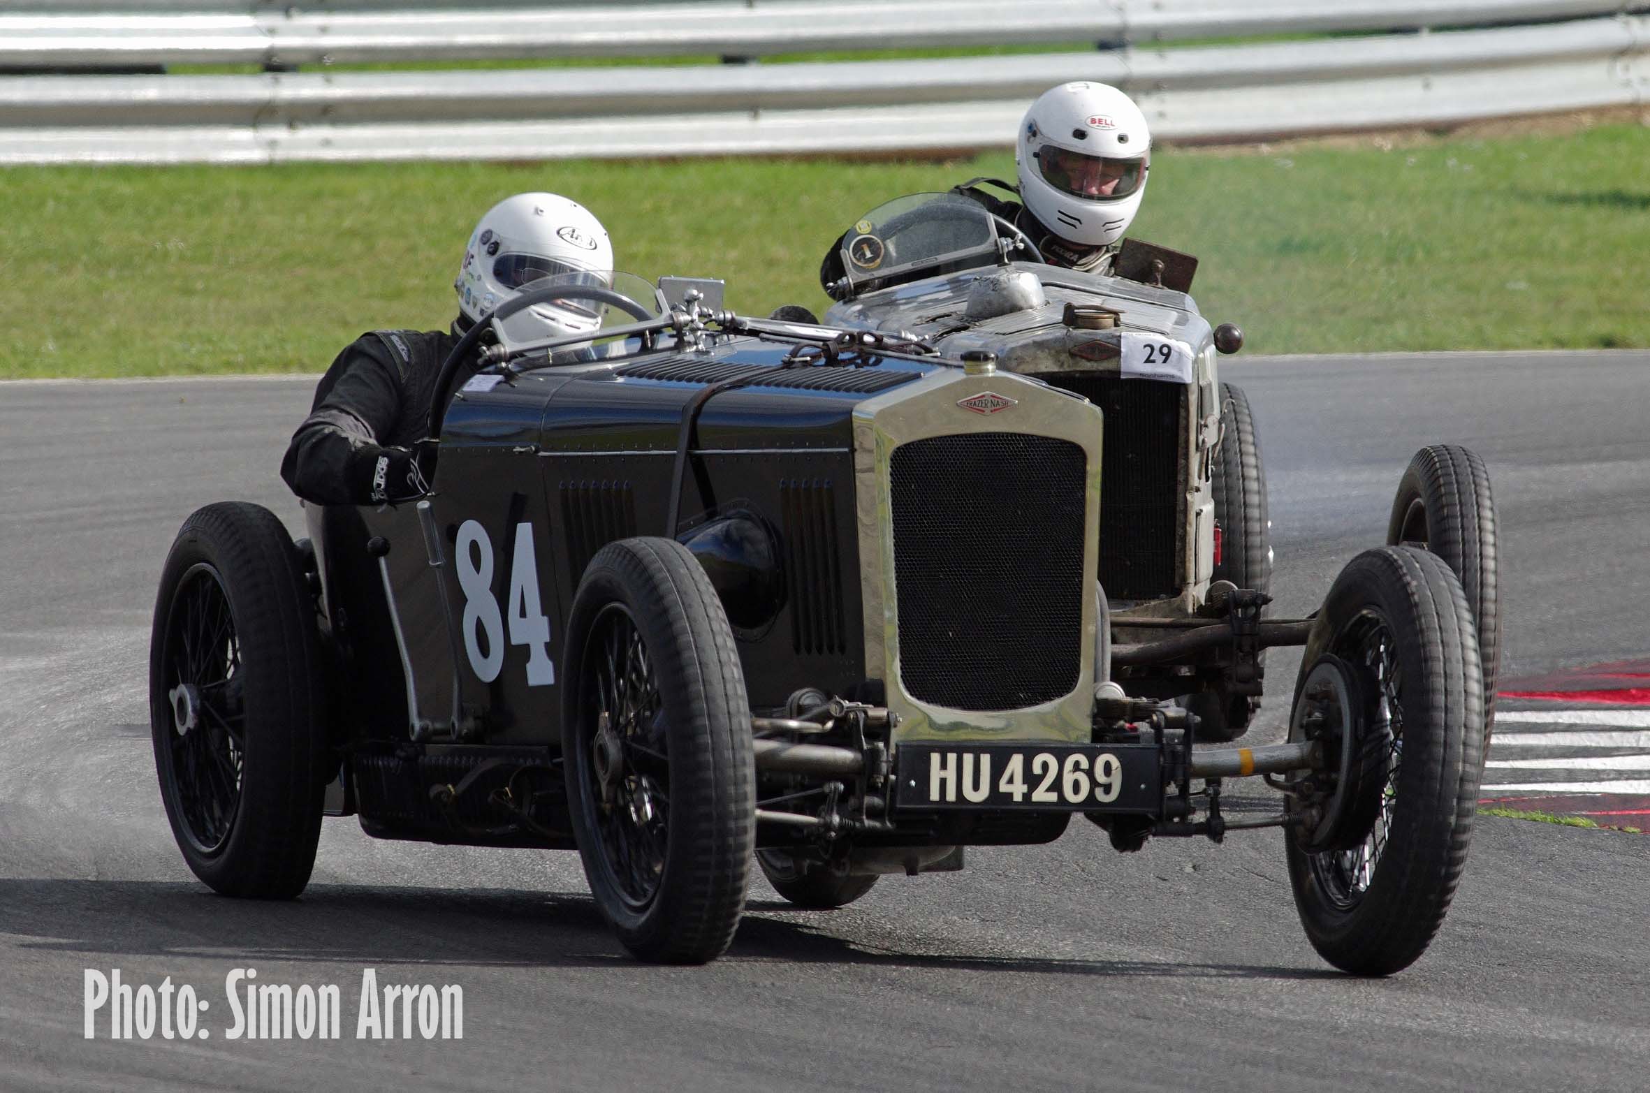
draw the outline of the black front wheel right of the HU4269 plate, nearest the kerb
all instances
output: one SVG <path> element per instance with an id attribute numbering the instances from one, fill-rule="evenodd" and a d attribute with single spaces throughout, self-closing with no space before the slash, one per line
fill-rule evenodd
<path id="1" fill-rule="evenodd" d="M 1355 557 L 1330 589 L 1295 701 L 1323 654 L 1356 673 L 1360 763 L 1384 753 L 1363 831 L 1322 852 L 1287 834 L 1295 907 L 1343 971 L 1384 976 L 1431 945 L 1467 864 L 1483 768 L 1483 684 L 1472 612 L 1442 559 L 1412 547 Z M 1332 659 L 1332 658 L 1325 658 Z M 1384 785 L 1381 785 L 1384 781 Z M 1361 842 L 1356 839 L 1361 837 Z M 1346 849 L 1350 847 L 1350 849 Z"/>

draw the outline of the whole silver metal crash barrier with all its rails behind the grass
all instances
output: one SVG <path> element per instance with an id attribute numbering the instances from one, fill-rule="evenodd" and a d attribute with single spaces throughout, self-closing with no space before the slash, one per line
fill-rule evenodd
<path id="1" fill-rule="evenodd" d="M 1063 79 L 1124 87 L 1147 110 L 1153 132 L 1175 140 L 1437 125 L 1650 102 L 1650 16 L 1625 15 L 1630 5 L 1587 0 L 1084 0 L 1033 5 L 1031 21 L 1020 21 L 1016 12 L 1013 26 L 1002 25 L 997 0 L 629 3 L 579 8 L 578 20 L 568 8 L 452 12 L 417 0 L 394 7 L 351 0 L 348 10 L 312 12 L 221 0 L 191 15 L 168 15 L 160 0 L 101 0 L 102 10 L 87 3 L 99 0 L 82 0 L 78 15 L 66 15 L 45 0 L 18 0 L 35 10 L 13 7 L 0 15 L 0 68 L 271 63 L 272 56 L 280 63 L 632 51 L 751 56 L 850 45 L 955 46 L 987 33 L 992 41 L 1137 45 L 807 64 L 15 74 L 0 76 L 0 163 L 1002 147 L 1011 143 L 1025 104 Z M 1536 18 L 1561 21 L 1516 25 Z M 1515 25 L 1218 48 L 1153 45 L 1193 35 L 1505 21 Z M 122 35 L 134 35 L 124 38 L 130 51 L 112 53 L 109 43 Z M 280 43 L 276 53 L 271 41 Z M 58 59 L 48 61 L 59 46 Z"/>

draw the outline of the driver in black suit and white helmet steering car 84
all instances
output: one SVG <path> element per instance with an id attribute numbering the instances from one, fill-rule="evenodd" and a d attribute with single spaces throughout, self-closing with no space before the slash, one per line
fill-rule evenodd
<path id="1" fill-rule="evenodd" d="M 470 232 L 452 282 L 459 292 L 452 328 L 375 330 L 350 343 L 315 387 L 280 476 L 320 504 L 381 504 L 426 493 L 412 445 L 424 437 L 436 378 L 459 338 L 541 277 L 582 274 L 607 284 L 612 257 L 607 229 L 578 201 L 553 193 L 505 198 Z M 596 313 L 573 303 L 530 312 L 544 336 L 601 326 Z"/>

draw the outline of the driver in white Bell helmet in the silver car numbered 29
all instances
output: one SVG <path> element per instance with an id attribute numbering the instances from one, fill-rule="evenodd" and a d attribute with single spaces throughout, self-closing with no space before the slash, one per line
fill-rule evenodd
<path id="1" fill-rule="evenodd" d="M 1152 168 L 1152 134 L 1140 107 L 1109 84 L 1077 81 L 1051 87 L 1020 122 L 1015 167 L 1018 186 L 970 178 L 952 193 L 978 201 L 1023 231 L 1049 265 L 1110 272 Z M 980 183 L 1018 201 L 992 196 Z M 843 274 L 842 242 L 825 256 L 822 284 Z"/>

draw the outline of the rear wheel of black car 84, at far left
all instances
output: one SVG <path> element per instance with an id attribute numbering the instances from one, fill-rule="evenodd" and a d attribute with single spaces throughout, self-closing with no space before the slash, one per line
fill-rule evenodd
<path id="1" fill-rule="evenodd" d="M 325 697 L 299 552 L 269 509 L 208 504 L 178 531 L 155 598 L 148 717 L 195 875 L 224 895 L 299 895 L 320 839 Z"/>

